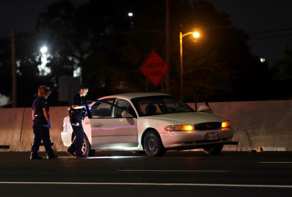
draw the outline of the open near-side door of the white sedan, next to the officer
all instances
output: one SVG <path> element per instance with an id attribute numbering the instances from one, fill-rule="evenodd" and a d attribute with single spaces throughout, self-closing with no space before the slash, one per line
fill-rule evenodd
<path id="1" fill-rule="evenodd" d="M 84 101 L 91 125 L 91 149 L 123 149 L 138 147 L 137 118 L 107 101 Z M 91 109 L 87 102 L 92 103 Z"/>

